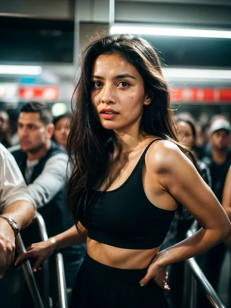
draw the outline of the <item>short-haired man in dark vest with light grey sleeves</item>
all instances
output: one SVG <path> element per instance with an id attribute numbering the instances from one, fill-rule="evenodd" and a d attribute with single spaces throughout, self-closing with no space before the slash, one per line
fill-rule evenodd
<path id="1" fill-rule="evenodd" d="M 45 221 L 49 237 L 47 243 L 54 235 L 69 229 L 74 223 L 66 205 L 68 156 L 51 140 L 54 132 L 52 122 L 53 116 L 49 104 L 37 101 L 24 104 L 18 119 L 20 149 L 11 150 L 28 185 L 30 196 Z M 40 240 L 36 224 L 29 226 L 21 235 L 26 246 Z M 44 242 L 43 245 L 47 243 Z M 66 285 L 67 288 L 72 288 L 85 254 L 85 247 L 84 245 L 72 246 L 62 250 L 62 254 Z M 58 299 L 56 263 L 53 256 L 50 259 L 49 268 L 50 292 L 53 307 L 56 307 Z M 28 299 L 22 304 L 23 307 L 31 307 L 29 305 L 32 304 Z"/>

